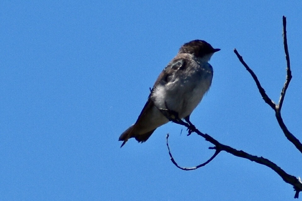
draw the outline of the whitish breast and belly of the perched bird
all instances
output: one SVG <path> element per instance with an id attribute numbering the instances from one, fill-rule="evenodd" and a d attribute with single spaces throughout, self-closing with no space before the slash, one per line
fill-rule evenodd
<path id="1" fill-rule="evenodd" d="M 180 118 L 187 117 L 192 113 L 209 90 L 213 70 L 207 62 L 196 62 L 193 69 L 175 80 L 159 85 L 154 89 L 153 100 L 158 108 L 176 111 Z"/>

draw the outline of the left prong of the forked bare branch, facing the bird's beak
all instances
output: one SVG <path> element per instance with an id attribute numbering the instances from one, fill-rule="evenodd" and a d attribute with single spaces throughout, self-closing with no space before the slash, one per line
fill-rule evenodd
<path id="1" fill-rule="evenodd" d="M 255 83 L 257 84 L 258 90 L 263 98 L 263 100 L 269 105 L 271 106 L 271 108 L 273 110 L 276 111 L 276 104 L 274 103 L 274 101 L 272 101 L 268 95 L 266 94 L 265 90 L 262 88 L 257 76 L 255 75 L 255 73 L 252 71 L 252 69 L 249 68 L 249 66 L 243 61 L 242 56 L 237 52 L 236 49 L 234 49 L 235 54 L 237 55 L 239 61 L 243 64 L 243 66 L 247 69 L 247 71 L 249 71 L 249 73 L 251 74 L 251 76 L 253 77 Z"/>

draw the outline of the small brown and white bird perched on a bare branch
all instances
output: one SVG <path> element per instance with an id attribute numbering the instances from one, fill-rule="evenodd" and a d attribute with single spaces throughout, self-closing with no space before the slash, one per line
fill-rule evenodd
<path id="1" fill-rule="evenodd" d="M 119 141 L 124 141 L 121 147 L 129 138 L 145 142 L 156 128 L 169 122 L 163 110 L 173 111 L 188 122 L 211 86 L 213 68 L 208 61 L 218 51 L 220 49 L 201 40 L 182 45 L 176 57 L 159 74 L 135 124 L 120 135 Z"/>

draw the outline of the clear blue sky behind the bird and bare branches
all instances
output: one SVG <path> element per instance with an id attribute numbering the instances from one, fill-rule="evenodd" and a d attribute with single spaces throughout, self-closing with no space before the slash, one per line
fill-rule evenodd
<path id="1" fill-rule="evenodd" d="M 159 73 L 185 42 L 221 48 L 210 91 L 191 116 L 223 144 L 302 176 L 302 155 L 261 99 L 237 48 L 275 101 L 285 81 L 282 15 L 293 79 L 282 115 L 302 140 L 301 1 L 2 1 L 1 200 L 294 200 L 272 170 L 227 153 L 195 171 L 211 144 L 168 123 L 146 143 L 134 123 Z M 290 3 L 289 3 L 290 2 Z M 300 195 L 302 196 L 302 195 Z"/>

